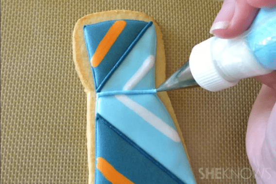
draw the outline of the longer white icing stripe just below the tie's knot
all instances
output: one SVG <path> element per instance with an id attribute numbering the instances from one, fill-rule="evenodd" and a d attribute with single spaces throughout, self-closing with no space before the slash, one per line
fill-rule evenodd
<path id="1" fill-rule="evenodd" d="M 142 117 L 145 121 L 147 121 L 149 124 L 155 127 L 155 129 L 160 131 L 162 134 L 165 134 L 167 137 L 169 137 L 175 142 L 180 142 L 180 137 L 177 134 L 177 132 L 167 123 L 165 123 L 162 119 L 150 112 L 148 109 L 141 106 L 137 102 L 131 100 L 126 95 L 115 95 L 115 97 L 116 99 L 121 101 L 125 106 L 133 110 L 133 112 Z"/>

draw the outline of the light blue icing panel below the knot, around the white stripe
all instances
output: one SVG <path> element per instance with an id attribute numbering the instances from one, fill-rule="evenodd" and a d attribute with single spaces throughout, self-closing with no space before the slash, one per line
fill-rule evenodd
<path id="1" fill-rule="evenodd" d="M 156 94 L 128 95 L 128 97 L 154 113 L 176 131 L 172 118 Z M 156 130 L 114 96 L 99 98 L 96 111 L 183 182 L 194 183 L 181 142 L 175 142 Z"/>

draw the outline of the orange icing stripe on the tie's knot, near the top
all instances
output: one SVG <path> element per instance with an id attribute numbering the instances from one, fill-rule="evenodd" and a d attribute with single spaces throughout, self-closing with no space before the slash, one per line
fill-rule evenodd
<path id="1" fill-rule="evenodd" d="M 126 21 L 124 20 L 117 20 L 114 24 L 109 28 L 107 33 L 104 35 L 104 38 L 98 45 L 94 55 L 91 58 L 92 67 L 97 67 L 100 65 L 104 56 L 114 44 L 116 39 L 118 38 L 119 34 L 122 32 L 126 25 Z"/>

